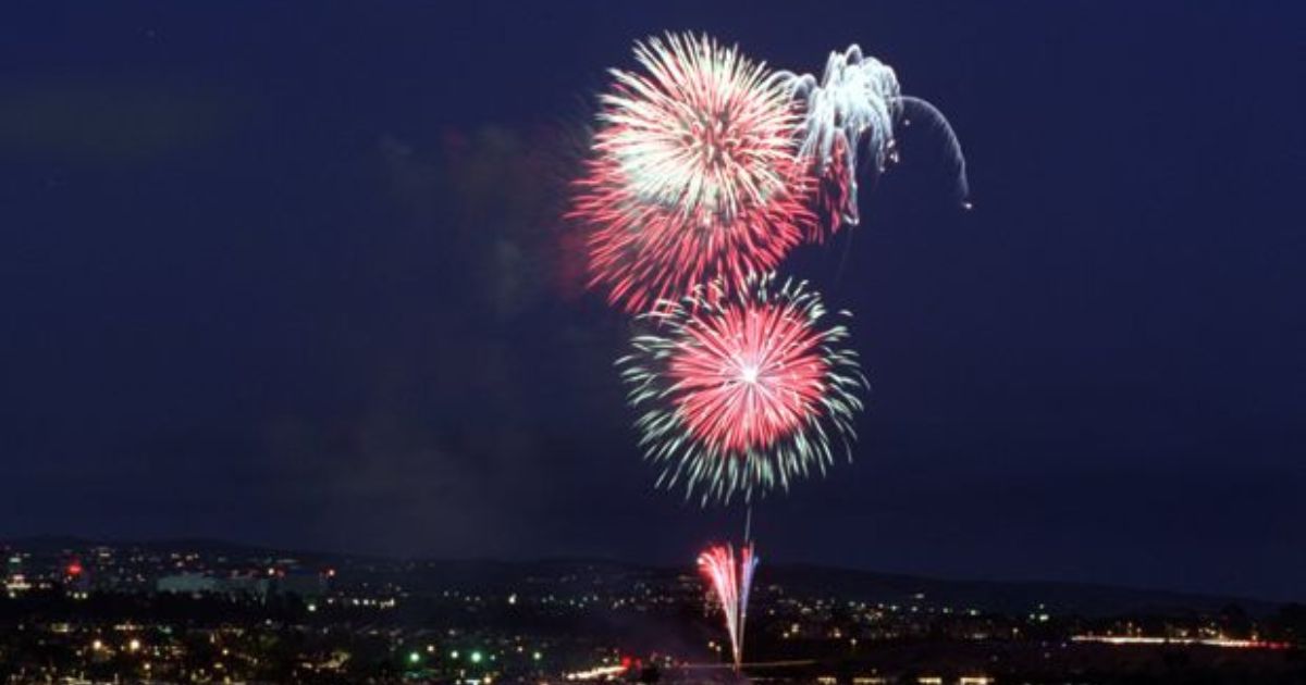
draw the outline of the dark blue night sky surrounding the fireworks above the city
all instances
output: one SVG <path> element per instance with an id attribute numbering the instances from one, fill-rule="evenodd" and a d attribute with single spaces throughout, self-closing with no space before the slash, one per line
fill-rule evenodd
<path id="1" fill-rule="evenodd" d="M 24 3 L 0 18 L 0 538 L 686 564 L 558 219 L 605 69 L 857 42 L 948 114 L 786 262 L 874 386 L 768 562 L 1306 599 L 1294 3 Z M 707 5 L 705 3 L 703 5 Z"/>

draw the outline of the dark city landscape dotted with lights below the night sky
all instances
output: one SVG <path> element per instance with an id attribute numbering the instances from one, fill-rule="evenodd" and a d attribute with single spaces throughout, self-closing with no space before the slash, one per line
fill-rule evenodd
<path id="1" fill-rule="evenodd" d="M 763 569 L 746 665 L 692 569 L 221 543 L 4 545 L 4 682 L 1306 682 L 1306 608 Z"/>

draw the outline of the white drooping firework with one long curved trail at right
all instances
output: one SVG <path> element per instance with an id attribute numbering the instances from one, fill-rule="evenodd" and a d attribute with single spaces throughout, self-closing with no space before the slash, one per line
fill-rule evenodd
<path id="1" fill-rule="evenodd" d="M 857 209 L 857 150 L 862 140 L 871 153 L 875 174 L 896 159 L 895 127 L 919 115 L 944 136 L 957 172 L 957 200 L 969 207 L 966 160 L 952 125 L 929 102 L 902 95 L 897 74 L 880 60 L 862 55 L 850 46 L 831 52 L 820 82 L 812 74 L 777 72 L 773 77 L 795 99 L 804 103 L 799 136 L 801 155 L 821 176 L 823 200 L 832 210 L 833 228 L 838 223 L 861 221 Z"/>

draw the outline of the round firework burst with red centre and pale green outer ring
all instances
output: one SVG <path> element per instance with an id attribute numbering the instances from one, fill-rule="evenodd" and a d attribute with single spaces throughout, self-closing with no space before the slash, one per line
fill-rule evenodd
<path id="1" fill-rule="evenodd" d="M 840 312 L 842 316 L 850 316 Z M 658 483 L 729 502 L 788 488 L 848 449 L 865 386 L 848 329 L 827 325 L 806 283 L 751 278 L 733 296 L 697 288 L 637 321 L 649 331 L 619 359 L 640 446 Z"/>

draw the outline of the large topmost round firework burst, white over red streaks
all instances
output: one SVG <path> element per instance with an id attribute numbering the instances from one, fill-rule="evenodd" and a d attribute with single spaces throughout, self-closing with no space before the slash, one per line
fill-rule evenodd
<path id="1" fill-rule="evenodd" d="M 688 34 L 635 56 L 641 70 L 611 70 L 569 213 L 589 231 L 590 286 L 629 312 L 734 287 L 816 235 L 797 106 L 765 65 Z"/>

